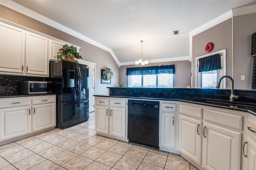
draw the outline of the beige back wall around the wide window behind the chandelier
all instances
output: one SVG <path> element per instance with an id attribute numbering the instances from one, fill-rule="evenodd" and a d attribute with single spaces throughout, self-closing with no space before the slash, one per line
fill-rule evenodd
<path id="1" fill-rule="evenodd" d="M 175 74 L 173 76 L 173 87 L 174 88 L 185 88 L 190 85 L 191 82 L 191 62 L 185 61 L 172 61 L 163 63 L 149 63 L 148 66 L 161 66 L 161 65 L 176 65 Z M 136 65 L 122 65 L 119 72 L 119 85 L 124 80 L 125 87 L 128 87 L 128 76 L 126 76 L 126 68 L 136 67 Z"/>

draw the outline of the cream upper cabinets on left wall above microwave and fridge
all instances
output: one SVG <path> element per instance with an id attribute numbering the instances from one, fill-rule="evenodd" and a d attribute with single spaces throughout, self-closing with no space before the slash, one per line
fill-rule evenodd
<path id="1" fill-rule="evenodd" d="M 49 60 L 58 60 L 64 44 L 73 45 L 9 22 L 0 22 L 0 37 L 0 74 L 8 75 L 48 77 Z"/>

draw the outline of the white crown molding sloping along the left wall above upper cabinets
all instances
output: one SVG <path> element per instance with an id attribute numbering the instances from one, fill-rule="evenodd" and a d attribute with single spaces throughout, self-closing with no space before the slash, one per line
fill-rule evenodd
<path id="1" fill-rule="evenodd" d="M 3 5 L 3 6 L 6 6 L 7 8 L 10 8 L 12 10 L 15 10 L 21 14 L 24 14 L 30 18 L 33 18 L 35 20 L 38 20 L 48 26 L 51 26 L 53 28 L 56 28 L 62 32 L 65 32 L 71 36 L 74 36 L 80 40 L 83 40 L 85 42 L 88 42 L 92 45 L 95 45 L 96 47 L 99 47 L 101 49 L 104 49 L 108 52 L 110 52 L 110 54 L 112 55 L 112 57 L 114 58 L 114 60 L 116 61 L 118 67 L 120 67 L 120 62 L 118 61 L 116 55 L 114 54 L 113 50 L 110 49 L 109 47 L 106 47 L 105 45 L 102 45 L 101 43 L 98 43 L 78 32 L 75 32 L 74 30 L 71 30 L 70 28 L 66 27 L 66 26 L 63 26 L 62 24 L 59 24 L 58 22 L 55 22 L 54 20 L 51 20 L 45 16 L 42 16 L 41 14 L 38 14 L 37 12 L 34 12 L 12 0 L 0 0 L 0 4 Z"/>

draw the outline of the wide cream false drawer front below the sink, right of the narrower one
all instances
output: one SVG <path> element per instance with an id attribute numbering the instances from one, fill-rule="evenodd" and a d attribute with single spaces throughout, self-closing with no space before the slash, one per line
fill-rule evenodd
<path id="1" fill-rule="evenodd" d="M 243 117 L 239 115 L 204 109 L 204 120 L 224 127 L 242 130 Z"/>

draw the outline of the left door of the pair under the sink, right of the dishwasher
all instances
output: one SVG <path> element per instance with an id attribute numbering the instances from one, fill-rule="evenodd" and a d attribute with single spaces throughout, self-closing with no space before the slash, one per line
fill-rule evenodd
<path id="1" fill-rule="evenodd" d="M 180 115 L 179 150 L 201 165 L 202 121 Z"/>

